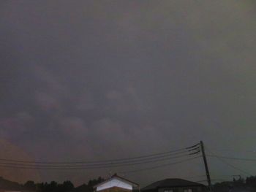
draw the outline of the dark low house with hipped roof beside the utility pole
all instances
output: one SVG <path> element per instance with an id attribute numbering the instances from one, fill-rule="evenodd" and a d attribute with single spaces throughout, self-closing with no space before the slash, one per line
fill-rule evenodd
<path id="1" fill-rule="evenodd" d="M 205 185 L 189 180 L 166 179 L 146 186 L 143 192 L 206 192 Z"/>

